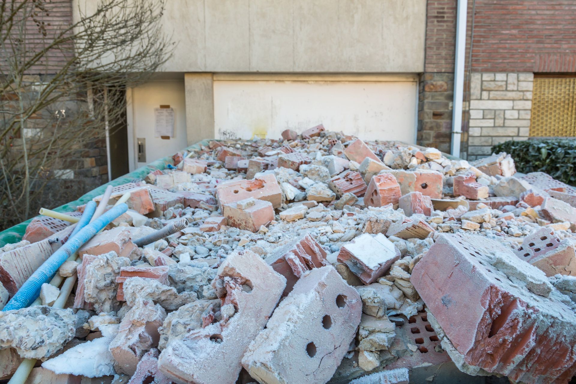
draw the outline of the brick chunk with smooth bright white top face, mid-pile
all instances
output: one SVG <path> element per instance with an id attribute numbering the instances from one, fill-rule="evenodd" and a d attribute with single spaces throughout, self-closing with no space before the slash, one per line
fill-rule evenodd
<path id="1" fill-rule="evenodd" d="M 374 283 L 400 258 L 400 251 L 383 234 L 364 233 L 342 245 L 337 260 L 364 284 Z"/>

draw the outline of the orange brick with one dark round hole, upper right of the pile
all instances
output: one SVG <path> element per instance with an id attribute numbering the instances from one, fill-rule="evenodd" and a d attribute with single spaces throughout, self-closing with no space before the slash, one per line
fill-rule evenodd
<path id="1" fill-rule="evenodd" d="M 384 170 L 382 173 L 390 173 L 400 185 L 402 195 L 410 192 L 420 192 L 422 195 L 430 196 L 431 199 L 442 197 L 442 174 L 435 170 L 419 169 L 408 171 L 403 169 Z"/>

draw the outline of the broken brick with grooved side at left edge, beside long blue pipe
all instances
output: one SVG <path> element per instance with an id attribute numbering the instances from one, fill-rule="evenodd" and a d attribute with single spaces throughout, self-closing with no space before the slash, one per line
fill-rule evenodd
<path id="1" fill-rule="evenodd" d="M 0 282 L 10 295 L 66 242 L 71 231 L 69 226 L 46 239 L 0 253 Z"/>

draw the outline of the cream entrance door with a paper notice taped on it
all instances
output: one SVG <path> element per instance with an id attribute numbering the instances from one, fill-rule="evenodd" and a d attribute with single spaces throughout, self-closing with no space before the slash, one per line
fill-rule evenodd
<path id="1" fill-rule="evenodd" d="M 156 159 L 173 155 L 187 146 L 184 79 L 150 81 L 129 92 L 128 137 L 130 138 L 130 170 Z M 174 109 L 174 137 L 154 137 L 154 108 L 170 105 Z M 146 138 L 146 162 L 138 162 L 137 138 Z M 135 165 L 132 168 L 132 164 Z"/>

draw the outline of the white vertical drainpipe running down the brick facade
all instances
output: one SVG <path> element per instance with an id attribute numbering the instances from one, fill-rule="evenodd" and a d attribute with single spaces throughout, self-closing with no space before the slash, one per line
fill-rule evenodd
<path id="1" fill-rule="evenodd" d="M 462 104 L 464 101 L 464 60 L 466 54 L 466 19 L 468 0 L 458 0 L 456 25 L 456 60 L 454 60 L 454 102 L 452 106 L 452 147 L 450 153 L 460 157 Z"/>

